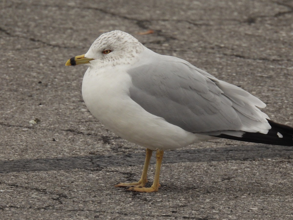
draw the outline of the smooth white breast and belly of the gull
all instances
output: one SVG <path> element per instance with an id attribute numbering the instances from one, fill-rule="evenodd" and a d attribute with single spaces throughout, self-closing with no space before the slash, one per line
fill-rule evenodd
<path id="1" fill-rule="evenodd" d="M 89 111 L 107 128 L 127 141 L 151 150 L 181 148 L 211 139 L 166 122 L 145 111 L 129 96 L 130 76 L 123 70 L 86 71 L 82 96 Z"/>

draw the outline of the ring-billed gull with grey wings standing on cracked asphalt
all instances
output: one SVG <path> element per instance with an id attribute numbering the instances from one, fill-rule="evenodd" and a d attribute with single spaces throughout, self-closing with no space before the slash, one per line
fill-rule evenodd
<path id="1" fill-rule="evenodd" d="M 293 146 L 293 128 L 260 111 L 265 104 L 189 62 L 157 54 L 132 35 L 100 35 L 84 55 L 66 65 L 89 65 L 82 96 L 89 111 L 118 136 L 147 148 L 137 192 L 158 191 L 163 152 L 215 138 Z M 256 107 L 257 106 L 257 107 Z M 147 170 L 156 150 L 151 187 Z"/>

